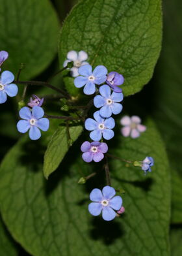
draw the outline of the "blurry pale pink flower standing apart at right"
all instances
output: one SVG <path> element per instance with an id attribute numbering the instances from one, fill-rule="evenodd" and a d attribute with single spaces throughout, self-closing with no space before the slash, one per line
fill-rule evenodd
<path id="1" fill-rule="evenodd" d="M 125 137 L 131 136 L 131 138 L 138 138 L 140 133 L 146 131 L 146 126 L 141 125 L 141 119 L 139 116 L 123 116 L 120 123 L 124 126 L 121 130 L 122 135 Z"/>

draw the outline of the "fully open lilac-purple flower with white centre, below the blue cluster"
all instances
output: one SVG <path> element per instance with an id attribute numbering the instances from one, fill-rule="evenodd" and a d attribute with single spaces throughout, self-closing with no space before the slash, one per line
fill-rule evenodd
<path id="1" fill-rule="evenodd" d="M 86 163 L 90 163 L 92 160 L 94 162 L 99 162 L 103 159 L 103 153 L 106 153 L 108 150 L 108 146 L 104 142 L 88 142 L 85 141 L 81 145 L 81 151 L 83 152 L 82 158 Z"/>

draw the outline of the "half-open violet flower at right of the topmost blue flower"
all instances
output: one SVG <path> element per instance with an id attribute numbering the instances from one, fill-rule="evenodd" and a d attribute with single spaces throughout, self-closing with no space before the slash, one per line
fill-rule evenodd
<path id="1" fill-rule="evenodd" d="M 121 86 L 124 82 L 122 74 L 112 71 L 108 74 L 106 82 L 113 89 L 113 91 L 116 93 L 122 93 L 122 88 L 118 87 Z"/>

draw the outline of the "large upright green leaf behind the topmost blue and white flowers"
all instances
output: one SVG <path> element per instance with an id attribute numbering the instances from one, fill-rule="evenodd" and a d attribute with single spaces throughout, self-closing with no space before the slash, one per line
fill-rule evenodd
<path id="1" fill-rule="evenodd" d="M 60 33 L 60 67 L 70 50 L 85 50 L 94 67 L 123 74 L 124 95 L 134 94 L 153 74 L 161 27 L 161 0 L 79 1 Z"/>

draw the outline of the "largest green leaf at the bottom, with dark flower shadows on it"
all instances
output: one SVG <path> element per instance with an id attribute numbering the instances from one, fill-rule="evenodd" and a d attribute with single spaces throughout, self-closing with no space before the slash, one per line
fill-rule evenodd
<path id="1" fill-rule="evenodd" d="M 112 186 L 125 190 L 125 214 L 110 222 L 88 213 L 89 193 L 105 185 L 105 173 L 100 172 L 86 185 L 77 184 L 83 174 L 102 170 L 101 164 L 83 162 L 77 144 L 61 163 L 62 171 L 48 181 L 42 176 L 40 146 L 33 143 L 30 148 L 22 138 L 10 150 L 0 168 L 1 212 L 23 248 L 34 256 L 169 255 L 168 161 L 153 122 L 145 124 L 148 129 L 140 138 L 118 134 L 110 145 L 118 157 L 142 160 L 151 155 L 155 159 L 147 176 L 140 168 L 109 162 Z"/>

